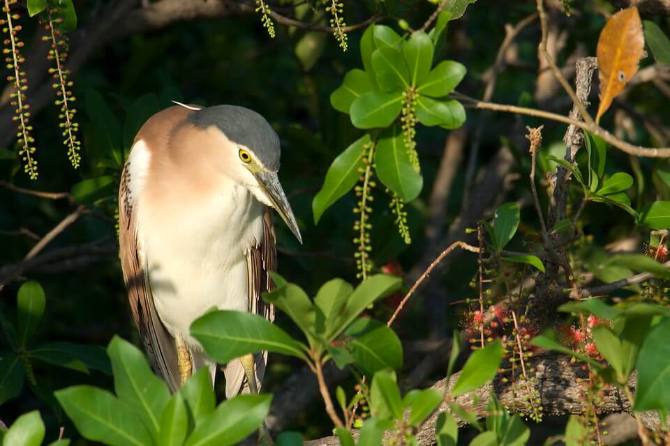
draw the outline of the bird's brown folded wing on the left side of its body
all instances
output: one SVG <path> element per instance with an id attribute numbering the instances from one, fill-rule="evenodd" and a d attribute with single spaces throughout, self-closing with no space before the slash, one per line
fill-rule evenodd
<path id="1" fill-rule="evenodd" d="M 149 355 L 151 366 L 168 383 L 172 392 L 179 388 L 181 382 L 177 346 L 174 338 L 165 329 L 158 318 L 151 295 L 151 286 L 147 277 L 147 252 L 144 251 L 142 240 L 137 234 L 137 200 L 130 190 L 130 171 L 128 163 L 121 174 L 119 187 L 119 243 L 121 251 L 121 268 L 128 289 L 128 301 L 144 350 Z M 135 212 L 134 212 L 135 211 Z"/>

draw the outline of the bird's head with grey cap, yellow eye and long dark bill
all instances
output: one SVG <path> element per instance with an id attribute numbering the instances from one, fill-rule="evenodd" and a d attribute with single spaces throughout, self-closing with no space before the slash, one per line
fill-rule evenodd
<path id="1" fill-rule="evenodd" d="M 211 132 L 223 151 L 222 174 L 274 208 L 300 243 L 302 237 L 277 172 L 281 148 L 272 126 L 253 110 L 234 105 L 198 109 L 193 125 Z"/>

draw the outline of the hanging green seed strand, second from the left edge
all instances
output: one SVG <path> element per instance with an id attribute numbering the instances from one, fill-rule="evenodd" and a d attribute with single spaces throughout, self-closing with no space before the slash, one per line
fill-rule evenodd
<path id="1" fill-rule="evenodd" d="M 62 136 L 65 138 L 63 144 L 68 148 L 70 163 L 77 169 L 82 160 L 80 155 L 82 144 L 77 138 L 79 124 L 74 121 L 77 110 L 72 107 L 72 102 L 76 100 L 72 94 L 73 82 L 68 81 L 70 70 L 64 68 L 65 59 L 68 56 L 68 40 L 57 26 L 62 19 L 60 17 L 54 18 L 54 13 L 57 13 L 57 10 L 47 8 L 48 19 L 44 26 L 47 36 L 44 36 L 43 40 L 51 41 L 51 49 L 47 59 L 56 61 L 56 66 L 49 68 L 49 74 L 56 80 L 52 86 L 56 90 L 56 105 L 61 107 L 58 115 L 59 120 L 61 120 L 59 127 L 63 129 Z"/>

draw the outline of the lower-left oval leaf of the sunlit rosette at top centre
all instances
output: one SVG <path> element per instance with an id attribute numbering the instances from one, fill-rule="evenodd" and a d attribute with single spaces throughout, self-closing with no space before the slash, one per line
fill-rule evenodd
<path id="1" fill-rule="evenodd" d="M 368 129 L 387 127 L 395 121 L 403 107 L 403 95 L 371 91 L 357 98 L 349 110 L 354 127 Z"/>

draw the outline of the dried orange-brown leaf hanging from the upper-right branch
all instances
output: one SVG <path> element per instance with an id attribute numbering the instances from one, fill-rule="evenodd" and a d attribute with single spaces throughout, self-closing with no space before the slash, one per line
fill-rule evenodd
<path id="1" fill-rule="evenodd" d="M 600 32 L 596 56 L 600 70 L 600 105 L 595 122 L 635 75 L 644 51 L 644 34 L 637 8 L 612 15 Z"/>

